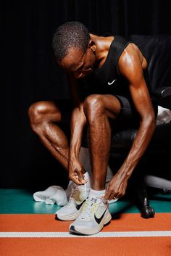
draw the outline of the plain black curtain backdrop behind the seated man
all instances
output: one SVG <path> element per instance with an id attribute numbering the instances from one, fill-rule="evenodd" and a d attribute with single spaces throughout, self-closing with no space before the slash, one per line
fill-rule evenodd
<path id="1" fill-rule="evenodd" d="M 0 8 L 0 186 L 65 185 L 66 172 L 28 122 L 33 102 L 70 96 L 64 74 L 52 58 L 54 30 L 63 22 L 78 20 L 99 34 L 171 33 L 170 0 L 1 0 Z"/>

